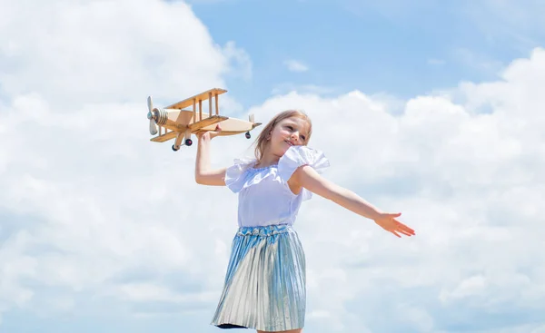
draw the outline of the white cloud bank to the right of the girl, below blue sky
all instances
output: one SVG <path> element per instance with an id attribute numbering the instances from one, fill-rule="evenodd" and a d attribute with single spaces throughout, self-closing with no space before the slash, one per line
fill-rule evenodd
<path id="1" fill-rule="evenodd" d="M 292 93 L 253 110 L 262 118 L 306 110 L 312 145 L 332 160 L 328 177 L 403 212 L 417 230 L 391 239 L 319 198 L 309 203 L 298 225 L 309 252 L 310 329 L 516 332 L 541 322 L 543 65 L 536 49 L 499 82 L 418 96 L 401 114 L 360 92 Z"/>

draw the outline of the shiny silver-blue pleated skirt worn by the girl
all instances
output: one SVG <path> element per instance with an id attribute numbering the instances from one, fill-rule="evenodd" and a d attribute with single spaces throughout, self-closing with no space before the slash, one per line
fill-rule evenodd
<path id="1" fill-rule="evenodd" d="M 303 328 L 305 283 L 304 251 L 292 226 L 239 228 L 212 325 L 263 331 Z"/>

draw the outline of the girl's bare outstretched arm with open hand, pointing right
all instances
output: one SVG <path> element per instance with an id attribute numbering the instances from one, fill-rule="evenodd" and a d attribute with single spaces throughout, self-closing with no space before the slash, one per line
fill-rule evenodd
<path id="1" fill-rule="evenodd" d="M 298 168 L 293 173 L 292 180 L 290 181 L 341 205 L 349 211 L 374 220 L 382 229 L 393 233 L 397 237 L 401 237 L 400 233 L 407 236 L 415 234 L 414 230 L 396 220 L 397 217 L 401 216 L 401 213 L 386 213 L 377 209 L 371 203 L 364 201 L 356 193 L 344 189 L 332 181 L 326 180 L 308 165 Z"/>

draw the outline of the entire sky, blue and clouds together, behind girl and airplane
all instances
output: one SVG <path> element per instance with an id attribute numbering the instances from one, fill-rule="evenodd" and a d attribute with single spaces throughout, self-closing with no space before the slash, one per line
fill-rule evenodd
<path id="1" fill-rule="evenodd" d="M 0 332 L 219 331 L 237 198 L 196 184 L 196 146 L 150 142 L 145 118 L 148 95 L 213 87 L 228 116 L 309 113 L 324 177 L 417 232 L 305 202 L 304 331 L 545 332 L 542 2 L 0 0 L 0 13 Z M 252 143 L 214 139 L 213 166 Z"/>

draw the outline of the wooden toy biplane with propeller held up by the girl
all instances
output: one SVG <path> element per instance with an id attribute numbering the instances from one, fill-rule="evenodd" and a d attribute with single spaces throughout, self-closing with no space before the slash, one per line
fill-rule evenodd
<path id="1" fill-rule="evenodd" d="M 214 88 L 165 108 L 154 108 L 152 96 L 149 96 L 147 118 L 150 120 L 150 134 L 158 134 L 151 141 L 165 142 L 175 138 L 173 151 L 176 152 L 183 145 L 191 146 L 193 144 L 192 134 L 214 131 L 218 123 L 222 128 L 219 135 L 235 135 L 246 132 L 246 138 L 250 139 L 250 131 L 262 123 L 253 122 L 253 114 L 250 114 L 248 122 L 220 115 L 218 96 L 222 93 L 227 93 L 227 91 Z M 213 114 L 213 98 L 215 100 L 215 114 Z M 203 112 L 203 101 L 206 100 L 209 102 L 208 113 Z M 193 110 L 183 109 L 188 106 L 193 106 Z"/>

